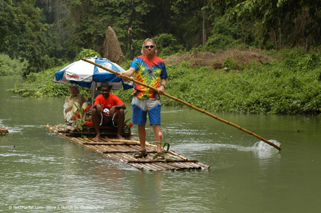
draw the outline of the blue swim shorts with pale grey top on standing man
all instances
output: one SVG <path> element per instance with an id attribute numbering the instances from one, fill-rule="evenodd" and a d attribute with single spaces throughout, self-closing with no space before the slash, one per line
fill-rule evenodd
<path id="1" fill-rule="evenodd" d="M 161 100 L 145 100 L 133 97 L 131 102 L 133 109 L 132 123 L 145 125 L 147 112 L 150 125 L 161 125 Z"/>

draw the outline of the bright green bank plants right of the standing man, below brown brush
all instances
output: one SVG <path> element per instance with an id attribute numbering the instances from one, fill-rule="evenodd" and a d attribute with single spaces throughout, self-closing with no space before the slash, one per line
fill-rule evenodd
<path id="1" fill-rule="evenodd" d="M 240 71 L 213 71 L 188 63 L 168 66 L 166 92 L 194 106 L 234 113 L 320 114 L 320 54 L 289 52 L 283 62 L 258 66 L 251 63 Z M 206 77 L 204 77 L 206 76 Z M 166 105 L 180 105 L 163 98 Z"/>

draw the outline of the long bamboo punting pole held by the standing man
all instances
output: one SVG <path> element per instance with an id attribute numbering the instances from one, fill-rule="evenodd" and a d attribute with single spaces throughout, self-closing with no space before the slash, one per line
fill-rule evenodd
<path id="1" fill-rule="evenodd" d="M 111 69 L 105 68 L 105 67 L 103 67 L 103 66 L 101 66 L 101 65 L 99 65 L 99 64 L 97 64 L 97 63 L 95 63 L 95 62 L 89 61 L 89 60 L 87 60 L 87 59 L 85 59 L 85 58 L 81 58 L 81 60 L 82 60 L 82 61 L 85 61 L 85 62 L 88 62 L 88 63 L 90 63 L 90 64 L 92 64 L 92 65 L 95 65 L 95 66 L 97 66 L 97 67 L 99 67 L 99 68 L 101 68 L 101 69 L 103 69 L 103 70 L 110 71 L 110 72 L 112 72 L 112 73 L 114 73 L 114 74 L 116 74 L 116 75 L 118 74 L 117 71 L 113 71 L 113 70 L 111 70 Z M 142 82 L 139 82 L 139 81 L 133 79 L 132 77 L 129 77 L 129 76 L 126 76 L 126 75 L 123 75 L 123 77 L 126 78 L 127 80 L 133 81 L 133 82 L 138 83 L 138 84 L 140 84 L 140 85 L 142 85 L 142 86 L 144 86 L 144 87 L 147 87 L 147 88 L 149 88 L 149 89 L 153 89 L 153 90 L 155 90 L 155 91 L 158 92 L 158 89 L 156 89 L 155 87 L 152 87 L 152 86 L 149 86 L 149 85 L 144 84 L 144 83 L 142 83 Z M 209 112 L 207 112 L 207 111 L 205 111 L 205 110 L 203 110 L 203 109 L 201 109 L 201 108 L 198 108 L 198 107 L 196 107 L 196 106 L 193 106 L 193 105 L 191 105 L 191 104 L 189 104 L 189 103 L 187 103 L 187 102 L 184 102 L 184 101 L 182 101 L 182 100 L 180 100 L 180 99 L 178 99 L 178 98 L 176 98 L 176 97 L 173 97 L 173 96 L 171 96 L 171 95 L 168 95 L 168 94 L 166 94 L 166 93 L 163 93 L 163 95 L 166 96 L 166 97 L 168 97 L 168 98 L 170 98 L 170 99 L 173 99 L 174 101 L 177 101 L 177 102 L 179 102 L 179 103 L 181 103 L 181 104 L 184 104 L 184 105 L 186 105 L 186 106 L 189 106 L 189 107 L 191 107 L 191 108 L 193 108 L 193 109 L 195 109 L 195 110 L 197 110 L 197 111 L 200 111 L 200 112 L 202 112 L 202 113 L 204 113 L 204 114 L 207 114 L 208 116 L 211 116 L 212 118 L 215 118 L 216 120 L 219 120 L 219 121 L 222 121 L 222 122 L 224 122 L 224 123 L 226 123 L 226 124 L 229 124 L 229 125 L 237 128 L 237 129 L 239 129 L 239 130 L 241 130 L 241 131 L 243 131 L 243 132 L 246 132 L 246 133 L 249 134 L 249 135 L 252 135 L 252 136 L 260 139 L 260 140 L 263 141 L 263 142 L 268 143 L 269 145 L 277 148 L 278 150 L 281 150 L 281 147 L 280 147 L 280 146 L 274 144 L 273 142 L 270 142 L 270 141 L 264 139 L 263 137 L 255 134 L 255 133 L 253 133 L 253 132 L 251 132 L 251 131 L 248 131 L 248 130 L 242 128 L 242 127 L 239 126 L 239 125 L 236 125 L 236 124 L 234 124 L 234 123 L 232 123 L 232 122 L 230 122 L 230 121 L 224 120 L 224 119 L 222 119 L 222 118 L 220 118 L 220 117 L 217 117 L 216 115 L 213 115 L 213 114 L 211 114 L 211 113 L 209 113 Z"/>

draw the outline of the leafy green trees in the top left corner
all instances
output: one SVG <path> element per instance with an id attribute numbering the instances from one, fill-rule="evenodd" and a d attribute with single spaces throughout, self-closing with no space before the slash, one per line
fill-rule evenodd
<path id="1" fill-rule="evenodd" d="M 61 65 L 55 58 L 59 46 L 50 48 L 57 36 L 44 19 L 29 1 L 0 0 L 0 52 L 27 60 L 24 75 Z"/>

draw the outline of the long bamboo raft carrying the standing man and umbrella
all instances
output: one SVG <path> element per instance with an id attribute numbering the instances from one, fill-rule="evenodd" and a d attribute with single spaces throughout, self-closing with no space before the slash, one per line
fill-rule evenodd
<path id="1" fill-rule="evenodd" d="M 202 164 L 198 160 L 188 159 L 187 157 L 177 154 L 171 150 L 168 150 L 168 152 L 164 150 L 166 160 L 153 160 L 153 157 L 157 154 L 157 146 L 156 144 L 148 142 L 146 142 L 146 151 L 148 153 L 148 156 L 145 158 L 134 158 L 134 154 L 140 151 L 140 143 L 139 141 L 131 139 L 132 135 L 129 135 L 126 140 L 118 140 L 109 138 L 113 136 L 115 137 L 115 134 L 111 132 L 109 135 L 106 133 L 105 137 L 100 140 L 93 140 L 92 138 L 88 138 L 89 136 L 91 136 L 90 133 L 88 133 L 88 137 L 81 138 L 80 133 L 77 134 L 77 131 L 66 131 L 66 128 L 61 128 L 61 125 L 46 125 L 45 127 L 51 132 L 64 137 L 68 141 L 80 144 L 95 152 L 104 154 L 110 159 L 120 161 L 136 169 L 161 171 L 209 168 L 208 165 Z"/>

